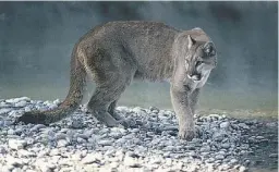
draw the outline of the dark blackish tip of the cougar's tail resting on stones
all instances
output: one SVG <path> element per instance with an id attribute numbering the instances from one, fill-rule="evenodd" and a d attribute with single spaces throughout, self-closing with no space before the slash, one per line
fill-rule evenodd
<path id="1" fill-rule="evenodd" d="M 23 122 L 25 124 L 45 124 L 46 115 L 39 114 L 39 112 L 25 112 L 15 121 L 15 124 L 17 124 L 19 122 Z"/>

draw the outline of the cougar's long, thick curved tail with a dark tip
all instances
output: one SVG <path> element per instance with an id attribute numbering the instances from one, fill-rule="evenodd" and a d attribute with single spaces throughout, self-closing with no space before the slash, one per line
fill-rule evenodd
<path id="1" fill-rule="evenodd" d="M 86 71 L 77 56 L 77 45 L 75 45 L 71 58 L 70 89 L 64 101 L 53 110 L 26 112 L 17 121 L 49 124 L 65 118 L 78 108 L 83 99 Z"/>

